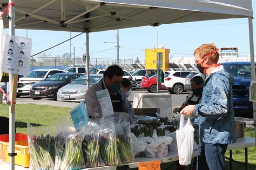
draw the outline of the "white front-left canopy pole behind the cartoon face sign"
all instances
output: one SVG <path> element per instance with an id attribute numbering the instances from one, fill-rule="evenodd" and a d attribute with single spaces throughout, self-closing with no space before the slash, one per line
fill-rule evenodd
<path id="1" fill-rule="evenodd" d="M 9 0 L 9 3 L 15 2 L 15 0 Z M 10 18 L 9 18 L 9 35 L 15 35 L 15 6 L 10 6 Z M 17 74 L 9 74 L 10 81 L 10 99 L 16 101 L 17 94 Z M 15 156 L 15 104 L 11 103 L 9 106 L 9 156 L 10 156 L 10 169 L 14 169 L 14 156 Z"/>

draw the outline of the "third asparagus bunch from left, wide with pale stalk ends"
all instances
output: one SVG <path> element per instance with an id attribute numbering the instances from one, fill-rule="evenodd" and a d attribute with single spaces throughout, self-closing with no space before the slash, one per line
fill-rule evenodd
<path id="1" fill-rule="evenodd" d="M 61 169 L 79 169 L 85 167 L 82 141 L 83 139 L 78 135 L 66 139 L 65 154 Z"/>

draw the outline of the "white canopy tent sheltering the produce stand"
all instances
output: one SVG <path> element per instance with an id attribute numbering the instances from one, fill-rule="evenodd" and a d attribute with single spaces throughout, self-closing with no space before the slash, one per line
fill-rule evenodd
<path id="1" fill-rule="evenodd" d="M 1 2 L 2 6 L 5 6 L 4 3 L 8 3 L 8 0 Z M 11 7 L 10 22 L 5 17 L 3 19 L 5 28 L 8 28 L 8 22 L 10 23 L 11 35 L 14 35 L 14 28 L 86 32 L 86 65 L 89 73 L 89 32 L 213 19 L 248 18 L 252 79 L 255 80 L 252 16 L 251 0 L 19 0 L 15 7 Z M 89 74 L 87 76 L 89 80 Z M 89 86 L 89 82 L 87 85 Z M 16 91 L 14 93 L 12 96 L 16 95 Z M 14 115 L 14 110 L 10 110 L 13 124 L 12 114 Z M 254 115 L 254 119 L 255 117 Z M 10 134 L 14 134 L 14 128 Z M 10 142 L 10 153 L 13 153 L 14 139 Z M 14 167 L 13 158 L 10 159 L 11 168 Z"/>

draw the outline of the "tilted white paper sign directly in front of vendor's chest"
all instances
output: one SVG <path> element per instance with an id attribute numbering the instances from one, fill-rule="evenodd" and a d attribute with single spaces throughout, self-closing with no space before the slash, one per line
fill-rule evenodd
<path id="1" fill-rule="evenodd" d="M 112 102 L 109 96 L 109 91 L 107 89 L 100 90 L 96 92 L 100 107 L 102 107 L 102 116 L 111 117 L 114 115 Z"/>

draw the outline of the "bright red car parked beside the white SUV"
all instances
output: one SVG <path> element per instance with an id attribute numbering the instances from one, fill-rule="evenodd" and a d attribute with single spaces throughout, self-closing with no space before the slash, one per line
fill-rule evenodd
<path id="1" fill-rule="evenodd" d="M 143 78 L 140 83 L 140 87 L 146 89 L 149 92 L 157 92 L 157 75 L 151 76 L 149 78 Z M 159 83 L 159 90 L 166 90 L 161 87 L 161 82 Z"/>

